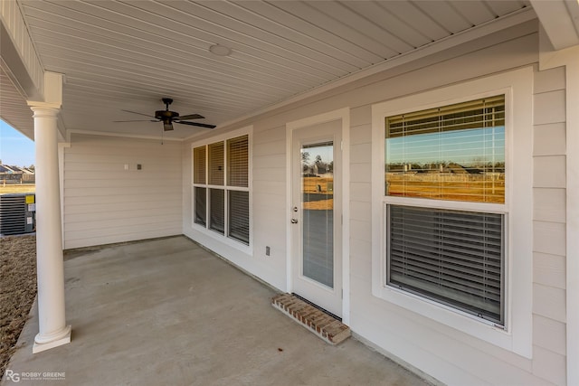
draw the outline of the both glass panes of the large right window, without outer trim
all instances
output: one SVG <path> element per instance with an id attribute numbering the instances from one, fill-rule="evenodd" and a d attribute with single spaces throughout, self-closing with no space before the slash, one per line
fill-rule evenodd
<path id="1" fill-rule="evenodd" d="M 387 285 L 503 325 L 505 214 L 388 198 L 504 203 L 505 96 L 399 114 L 384 126 Z"/>

